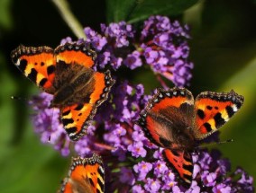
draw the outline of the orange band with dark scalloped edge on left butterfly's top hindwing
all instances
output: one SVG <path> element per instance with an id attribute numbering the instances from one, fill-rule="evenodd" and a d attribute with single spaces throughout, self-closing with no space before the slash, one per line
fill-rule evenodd
<path id="1" fill-rule="evenodd" d="M 57 62 L 63 61 L 66 64 L 79 64 L 85 67 L 95 65 L 96 52 L 85 47 L 84 44 L 60 45 L 54 50 Z"/>

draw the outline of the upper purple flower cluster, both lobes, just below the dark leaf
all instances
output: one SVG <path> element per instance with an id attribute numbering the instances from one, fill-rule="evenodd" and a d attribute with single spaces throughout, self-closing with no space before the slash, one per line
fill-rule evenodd
<path id="1" fill-rule="evenodd" d="M 176 86 L 185 86 L 192 78 L 193 63 L 187 60 L 188 27 L 181 26 L 178 21 L 151 16 L 144 22 L 139 37 L 136 37 L 133 26 L 125 22 L 102 24 L 100 33 L 89 27 L 84 32 L 86 41 L 98 53 L 97 68 L 109 64 L 115 70 L 122 65 L 133 70 L 145 64 Z M 61 43 L 71 41 L 70 38 L 62 39 Z"/>

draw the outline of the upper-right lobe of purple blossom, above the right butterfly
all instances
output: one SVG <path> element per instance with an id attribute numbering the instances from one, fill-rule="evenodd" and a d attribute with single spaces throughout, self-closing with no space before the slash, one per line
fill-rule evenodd
<path id="1" fill-rule="evenodd" d="M 141 48 L 146 62 L 177 86 L 187 85 L 192 78 L 193 64 L 187 62 L 187 30 L 187 26 L 181 27 L 177 21 L 171 23 L 161 16 L 151 16 L 142 30 Z"/>

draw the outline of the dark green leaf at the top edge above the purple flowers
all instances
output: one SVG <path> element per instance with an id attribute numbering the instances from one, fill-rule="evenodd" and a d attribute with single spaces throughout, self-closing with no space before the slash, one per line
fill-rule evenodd
<path id="1" fill-rule="evenodd" d="M 139 22 L 152 14 L 176 15 L 198 0 L 108 0 L 108 22 Z"/>

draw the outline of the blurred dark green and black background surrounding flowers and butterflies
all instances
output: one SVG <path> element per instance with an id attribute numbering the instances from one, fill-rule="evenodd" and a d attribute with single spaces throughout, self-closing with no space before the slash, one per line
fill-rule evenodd
<path id="1" fill-rule="evenodd" d="M 231 160 L 233 170 L 242 166 L 256 177 L 256 1 L 195 0 L 185 5 L 174 4 L 174 9 L 170 6 L 163 12 L 159 9 L 160 5 L 167 4 L 165 0 L 150 0 L 149 4 L 141 4 L 136 9 L 130 2 L 77 0 L 69 1 L 69 5 L 83 26 L 96 31 L 102 22 L 123 19 L 139 26 L 149 13 L 169 14 L 170 19 L 188 23 L 192 35 L 190 60 L 195 64 L 189 89 L 195 95 L 207 90 L 229 92 L 233 89 L 245 97 L 242 110 L 220 129 L 223 140 L 232 138 L 234 142 L 215 145 L 215 148 Z M 158 6 L 154 5 L 156 2 Z M 9 57 L 11 50 L 21 43 L 55 48 L 60 39 L 67 36 L 76 39 L 50 1 L 0 0 L 2 193 L 56 192 L 68 171 L 70 159 L 61 157 L 50 145 L 41 145 L 40 137 L 34 134 L 30 121 L 32 110 L 26 102 L 39 89 L 18 71 Z M 149 78 L 151 72 L 144 72 L 143 68 L 138 72 L 132 81 L 145 84 L 148 93 L 158 85 Z M 11 100 L 13 95 L 23 100 Z"/>

